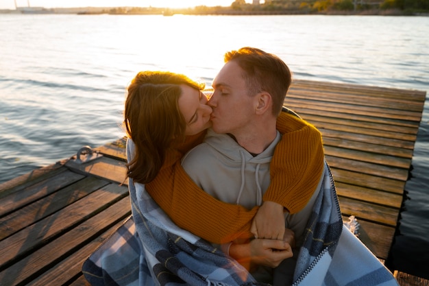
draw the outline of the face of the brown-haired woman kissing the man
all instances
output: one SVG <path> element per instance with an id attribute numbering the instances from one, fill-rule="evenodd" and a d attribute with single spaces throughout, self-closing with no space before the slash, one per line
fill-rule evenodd
<path id="1" fill-rule="evenodd" d="M 180 88 L 179 109 L 186 121 L 185 135 L 194 135 L 212 126 L 212 108 L 207 105 L 206 95 L 186 84 L 180 84 Z"/>

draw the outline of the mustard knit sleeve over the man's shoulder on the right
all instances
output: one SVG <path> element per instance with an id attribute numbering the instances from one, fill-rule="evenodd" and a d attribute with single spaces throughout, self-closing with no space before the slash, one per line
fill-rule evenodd
<path id="1" fill-rule="evenodd" d="M 271 183 L 264 201 L 282 204 L 289 213 L 306 206 L 324 166 L 321 134 L 306 121 L 282 112 L 277 128 L 283 134 L 270 164 Z M 293 152 L 291 152 L 293 150 Z"/>

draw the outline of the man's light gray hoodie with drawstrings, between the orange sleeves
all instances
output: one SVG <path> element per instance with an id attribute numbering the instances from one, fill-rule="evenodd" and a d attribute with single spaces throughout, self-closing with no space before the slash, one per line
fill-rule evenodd
<path id="1" fill-rule="evenodd" d="M 253 208 L 262 204 L 270 182 L 271 158 L 281 138 L 277 132 L 264 152 L 252 156 L 228 134 L 210 129 L 204 142 L 182 158 L 182 166 L 206 193 L 223 202 Z"/>

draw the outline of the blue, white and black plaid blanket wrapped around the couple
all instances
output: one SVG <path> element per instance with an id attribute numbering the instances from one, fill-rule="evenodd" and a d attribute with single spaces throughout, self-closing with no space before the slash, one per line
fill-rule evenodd
<path id="1" fill-rule="evenodd" d="M 133 148 L 127 146 L 128 158 Z M 145 191 L 129 182 L 132 218 L 84 262 L 91 285 L 263 285 L 210 243 L 176 226 Z M 293 286 L 398 285 L 343 226 L 328 165 L 299 250 Z"/>

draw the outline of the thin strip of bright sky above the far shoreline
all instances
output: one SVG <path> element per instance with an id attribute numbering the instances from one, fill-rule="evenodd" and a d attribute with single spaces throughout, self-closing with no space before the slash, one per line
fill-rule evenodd
<path id="1" fill-rule="evenodd" d="M 29 0 L 33 7 L 171 7 L 186 8 L 198 5 L 230 6 L 234 0 Z M 247 0 L 247 3 L 252 3 Z M 27 6 L 27 0 L 16 0 L 18 6 Z M 15 9 L 14 0 L 0 0 L 0 9 Z"/>

